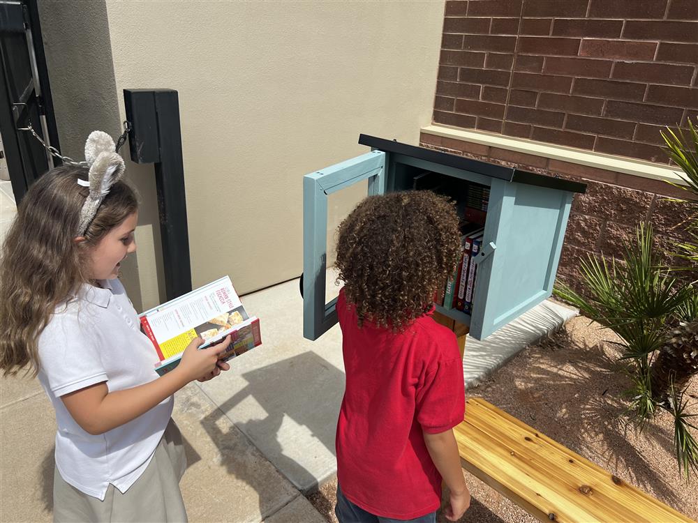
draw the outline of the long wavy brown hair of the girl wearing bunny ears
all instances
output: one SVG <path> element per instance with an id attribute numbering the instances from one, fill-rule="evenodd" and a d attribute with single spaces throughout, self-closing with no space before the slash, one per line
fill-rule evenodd
<path id="1" fill-rule="evenodd" d="M 60 303 L 89 281 L 89 253 L 112 227 L 138 210 L 135 192 L 112 185 L 87 232 L 75 237 L 89 189 L 86 167 L 64 166 L 40 177 L 17 207 L 0 255 L 0 369 L 38 372 L 38 337 Z"/>

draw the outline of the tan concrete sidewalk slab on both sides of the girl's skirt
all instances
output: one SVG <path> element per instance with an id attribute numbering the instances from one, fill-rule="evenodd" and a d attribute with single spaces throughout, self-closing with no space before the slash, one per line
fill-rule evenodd
<path id="1" fill-rule="evenodd" d="M 0 379 L 0 521 L 52 521 L 54 411 L 38 381 Z M 181 480 L 192 522 L 322 523 L 309 501 L 189 384 L 174 420 L 189 467 Z"/>

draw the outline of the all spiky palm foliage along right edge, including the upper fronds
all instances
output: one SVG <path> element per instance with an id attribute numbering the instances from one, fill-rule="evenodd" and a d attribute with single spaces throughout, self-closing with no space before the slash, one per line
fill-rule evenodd
<path id="1" fill-rule="evenodd" d="M 688 122 L 690 139 L 667 128 L 662 137 L 669 156 L 681 167 L 686 185 L 676 187 L 698 196 L 698 131 Z M 675 185 L 675 184 L 674 184 Z M 684 200 L 676 200 L 684 202 Z M 688 220 L 690 241 L 677 243 L 678 253 L 692 269 L 698 263 L 698 202 L 685 201 L 697 212 Z M 684 224 L 685 224 L 684 222 Z M 683 224 L 682 224 L 683 225 Z M 674 446 L 679 471 L 698 473 L 698 441 L 689 414 L 695 405 L 686 388 L 698 374 L 698 287 L 676 278 L 676 268 L 662 266 L 654 248 L 652 227 L 641 224 L 634 241 L 623 245 L 620 259 L 589 256 L 581 261 L 584 295 L 558 282 L 556 295 L 609 328 L 629 363 L 632 386 L 630 413 L 640 429 L 658 409 L 674 418 Z"/>

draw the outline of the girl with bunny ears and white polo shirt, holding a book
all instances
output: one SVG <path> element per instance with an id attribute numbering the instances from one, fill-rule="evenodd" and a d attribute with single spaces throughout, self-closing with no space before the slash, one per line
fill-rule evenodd
<path id="1" fill-rule="evenodd" d="M 194 340 L 158 377 L 117 278 L 138 202 L 109 135 L 92 132 L 85 158 L 41 176 L 17 209 L 0 259 L 0 368 L 38 374 L 56 411 L 54 521 L 186 521 L 172 395 L 228 370 L 230 338 Z"/>

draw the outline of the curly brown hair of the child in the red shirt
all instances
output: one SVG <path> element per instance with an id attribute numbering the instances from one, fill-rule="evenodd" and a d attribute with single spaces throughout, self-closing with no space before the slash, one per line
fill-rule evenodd
<path id="1" fill-rule="evenodd" d="M 403 330 L 428 312 L 460 255 L 454 203 L 429 191 L 364 199 L 339 225 L 336 267 L 348 305 L 364 320 Z"/>

